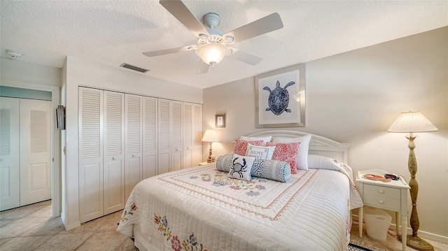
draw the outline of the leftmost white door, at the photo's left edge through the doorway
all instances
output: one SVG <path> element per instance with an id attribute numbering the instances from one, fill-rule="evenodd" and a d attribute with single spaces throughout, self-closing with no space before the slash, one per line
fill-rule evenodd
<path id="1" fill-rule="evenodd" d="M 20 206 L 19 99 L 0 97 L 0 210 Z"/>

